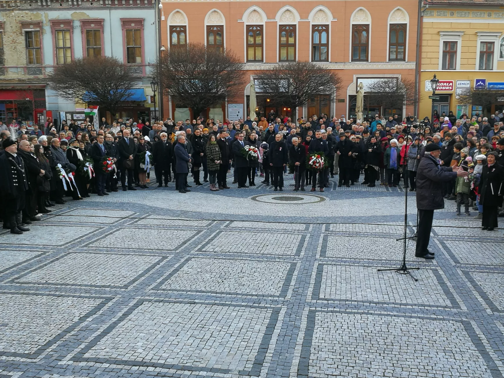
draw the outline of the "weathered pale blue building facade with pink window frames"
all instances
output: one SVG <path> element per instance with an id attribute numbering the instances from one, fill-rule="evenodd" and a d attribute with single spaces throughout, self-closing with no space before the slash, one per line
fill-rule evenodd
<path id="1" fill-rule="evenodd" d="M 24 0 L 0 4 L 0 120 L 83 119 L 85 104 L 60 98 L 46 84 L 56 65 L 74 58 L 118 58 L 138 75 L 138 88 L 116 117 L 150 116 L 157 56 L 152 0 Z"/>

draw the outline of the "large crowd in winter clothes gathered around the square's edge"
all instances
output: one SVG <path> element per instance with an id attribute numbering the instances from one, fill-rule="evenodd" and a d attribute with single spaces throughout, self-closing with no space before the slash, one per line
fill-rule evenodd
<path id="1" fill-rule="evenodd" d="M 457 203 L 457 215 L 477 211 L 482 227 L 497 227 L 504 187 L 504 116 L 479 114 L 457 119 L 434 114 L 416 122 L 412 116 L 371 121 L 330 119 L 326 114 L 292 120 L 269 113 L 254 120 L 214 119 L 134 122 L 102 118 L 96 130 L 89 119 L 65 120 L 29 130 L 21 121 L 0 122 L 0 216 L 4 228 L 19 234 L 50 212 L 65 197 L 82 200 L 90 194 L 108 196 L 147 188 L 151 170 L 158 187 L 174 181 L 179 193 L 210 183 L 210 191 L 227 190 L 228 173 L 238 188 L 262 183 L 284 190 L 284 175 L 293 174 L 294 191 L 311 192 L 330 184 L 359 183 L 369 187 L 402 185 L 416 190 L 415 177 L 425 147 L 440 148 L 441 166 L 460 166 L 470 174 L 444 183 L 447 200 Z M 42 130 L 41 130 L 42 129 Z M 312 159 L 311 157 L 314 158 Z M 316 156 L 323 166 L 313 167 Z M 322 161 L 322 160 L 321 160 Z M 322 163 L 321 163 L 322 164 Z M 203 182 L 202 182 L 203 181 Z M 193 182 L 191 182 L 193 183 Z"/>

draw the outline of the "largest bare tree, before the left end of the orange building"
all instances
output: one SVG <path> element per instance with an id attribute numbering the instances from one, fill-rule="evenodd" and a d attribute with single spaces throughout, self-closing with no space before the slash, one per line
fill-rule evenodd
<path id="1" fill-rule="evenodd" d="M 201 43 L 171 48 L 158 65 L 164 93 L 177 105 L 191 108 L 195 117 L 233 97 L 242 84 L 243 65 L 237 56 Z"/>

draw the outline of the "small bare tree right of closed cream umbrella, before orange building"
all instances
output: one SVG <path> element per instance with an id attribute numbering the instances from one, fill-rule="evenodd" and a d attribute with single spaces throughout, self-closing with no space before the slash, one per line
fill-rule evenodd
<path id="1" fill-rule="evenodd" d="M 368 103 L 382 106 L 383 109 L 396 109 L 414 105 L 415 82 L 408 79 L 381 79 L 364 87 Z M 418 98 L 420 101 L 420 98 Z"/>

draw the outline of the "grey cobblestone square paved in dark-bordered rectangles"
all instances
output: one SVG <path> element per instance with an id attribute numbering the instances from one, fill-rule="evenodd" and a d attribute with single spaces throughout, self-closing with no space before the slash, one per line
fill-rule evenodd
<path id="1" fill-rule="evenodd" d="M 447 203 L 436 259 L 408 244 L 414 282 L 377 272 L 399 266 L 401 188 L 285 177 L 281 193 L 153 182 L 1 232 L 0 378 L 504 375 L 502 229 Z"/>

